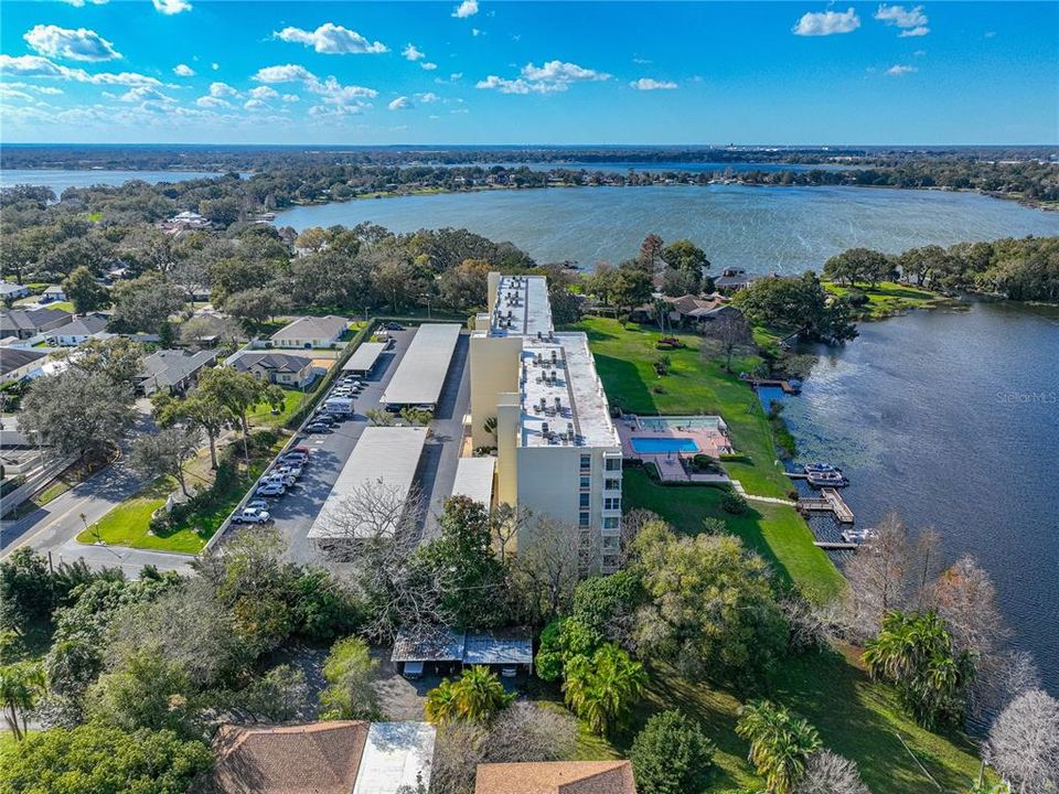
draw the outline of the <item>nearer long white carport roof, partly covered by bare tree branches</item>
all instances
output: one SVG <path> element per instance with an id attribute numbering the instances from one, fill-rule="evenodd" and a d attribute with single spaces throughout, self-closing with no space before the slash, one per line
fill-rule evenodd
<path id="1" fill-rule="evenodd" d="M 426 442 L 427 428 L 364 428 L 312 523 L 309 537 L 353 539 L 377 529 L 367 519 L 359 524 L 355 516 L 349 515 L 345 500 L 357 490 L 374 487 L 382 491 L 387 501 L 407 498 Z M 399 518 L 394 515 L 392 525 Z"/>

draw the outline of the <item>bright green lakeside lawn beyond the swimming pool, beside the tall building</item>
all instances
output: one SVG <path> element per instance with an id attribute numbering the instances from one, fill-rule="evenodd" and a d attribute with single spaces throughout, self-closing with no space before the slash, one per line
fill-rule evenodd
<path id="1" fill-rule="evenodd" d="M 622 329 L 617 320 L 606 318 L 586 318 L 576 328 L 588 333 L 611 405 L 648 416 L 719 414 L 736 450 L 750 457 L 749 463 L 725 464 L 732 479 L 753 494 L 787 496 L 791 483 L 777 463 L 764 409 L 737 376 L 758 364 L 757 356 L 737 356 L 734 373 L 727 373 L 723 361 L 703 358 L 700 336 L 678 333 L 674 335 L 687 346 L 664 353 L 671 361 L 670 374 L 659 377 L 653 365 L 663 352 L 654 348 L 661 336 L 656 328 L 630 324 Z"/>

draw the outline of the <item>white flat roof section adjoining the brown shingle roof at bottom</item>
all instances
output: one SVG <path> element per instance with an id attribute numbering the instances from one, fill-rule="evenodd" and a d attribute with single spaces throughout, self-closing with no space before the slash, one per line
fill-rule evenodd
<path id="1" fill-rule="evenodd" d="M 353 794 L 396 794 L 430 787 L 437 730 L 429 722 L 372 722 Z"/>

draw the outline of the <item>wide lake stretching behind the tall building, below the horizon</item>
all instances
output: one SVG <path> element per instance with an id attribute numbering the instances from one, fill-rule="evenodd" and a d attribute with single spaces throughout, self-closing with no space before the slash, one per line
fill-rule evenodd
<path id="1" fill-rule="evenodd" d="M 568 187 L 359 200 L 295 207 L 277 226 L 363 221 L 395 232 L 466 227 L 511 240 L 539 262 L 573 259 L 591 267 L 635 256 L 654 232 L 688 237 L 714 271 L 820 270 L 852 246 L 897 253 L 928 243 L 1059 234 L 1059 213 L 970 193 L 857 187 L 742 185 Z"/>

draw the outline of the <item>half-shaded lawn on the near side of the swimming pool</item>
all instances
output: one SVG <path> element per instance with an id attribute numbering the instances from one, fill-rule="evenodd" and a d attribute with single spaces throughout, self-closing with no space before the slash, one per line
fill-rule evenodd
<path id="1" fill-rule="evenodd" d="M 813 546 L 812 530 L 793 507 L 751 502 L 746 514 L 734 516 L 720 508 L 721 489 L 660 485 L 637 468 L 625 469 L 622 493 L 627 509 L 653 511 L 689 535 L 702 530 L 703 518 L 723 519 L 729 532 L 771 564 L 782 581 L 798 584 L 821 602 L 838 596 L 845 587 L 827 555 Z"/>

